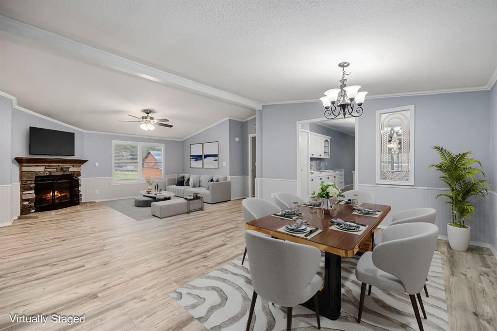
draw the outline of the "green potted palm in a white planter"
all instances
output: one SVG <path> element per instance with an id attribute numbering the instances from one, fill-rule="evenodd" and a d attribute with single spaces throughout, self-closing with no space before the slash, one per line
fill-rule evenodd
<path id="1" fill-rule="evenodd" d="M 452 154 L 441 146 L 433 146 L 440 156 L 440 163 L 429 165 L 442 173 L 438 178 L 450 189 L 449 193 L 437 195 L 448 198 L 447 203 L 451 206 L 452 220 L 447 224 L 447 237 L 452 249 L 468 250 L 471 228 L 466 225 L 466 220 L 475 213 L 475 208 L 468 201 L 472 196 L 487 195 L 490 184 L 487 180 L 477 178 L 485 176 L 481 169 L 481 162 L 471 158 L 471 152 Z M 474 165 L 480 165 L 480 168 Z"/>

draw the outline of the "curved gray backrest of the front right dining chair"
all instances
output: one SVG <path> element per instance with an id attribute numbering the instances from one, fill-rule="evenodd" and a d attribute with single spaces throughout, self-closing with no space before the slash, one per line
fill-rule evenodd
<path id="1" fill-rule="evenodd" d="M 437 237 L 438 228 L 430 223 L 389 226 L 373 249 L 373 263 L 398 277 L 408 294 L 417 294 L 426 282 Z"/>

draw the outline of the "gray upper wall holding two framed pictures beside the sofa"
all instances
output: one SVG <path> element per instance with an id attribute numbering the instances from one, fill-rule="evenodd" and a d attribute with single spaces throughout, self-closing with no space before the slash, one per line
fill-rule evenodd
<path id="1" fill-rule="evenodd" d="M 221 123 L 214 125 L 207 130 L 204 130 L 188 139 L 183 140 L 183 172 L 195 174 L 216 174 L 216 175 L 229 175 L 230 174 L 230 121 L 225 120 Z M 204 169 L 204 168 L 190 168 L 190 144 L 219 142 L 219 168 L 218 169 Z M 226 162 L 226 166 L 223 166 Z"/>

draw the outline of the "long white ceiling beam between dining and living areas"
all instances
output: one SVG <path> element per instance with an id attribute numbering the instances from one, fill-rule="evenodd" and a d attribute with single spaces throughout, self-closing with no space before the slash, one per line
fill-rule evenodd
<path id="1" fill-rule="evenodd" d="M 102 51 L 78 41 L 40 29 L 19 20 L 0 15 L 0 30 L 24 38 L 36 40 L 54 49 L 67 52 L 90 63 L 111 68 L 127 74 L 138 76 L 154 82 L 163 83 L 207 95 L 216 99 L 235 103 L 252 109 L 261 109 L 261 102 L 247 99 L 243 96 L 223 91 L 205 84 L 155 69 L 141 63 L 125 59 L 115 54 Z"/>

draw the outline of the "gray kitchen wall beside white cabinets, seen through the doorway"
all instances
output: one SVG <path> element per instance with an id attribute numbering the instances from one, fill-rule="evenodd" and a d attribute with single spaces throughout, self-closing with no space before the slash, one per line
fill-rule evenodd
<path id="1" fill-rule="evenodd" d="M 344 169 L 344 184 L 352 185 L 352 171 L 355 170 L 355 138 L 316 123 L 309 123 L 309 131 L 331 137 L 330 157 L 323 159 L 328 163 L 326 169 Z"/>

